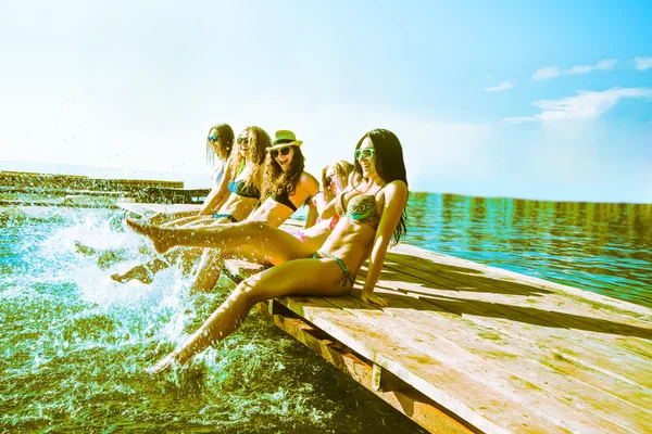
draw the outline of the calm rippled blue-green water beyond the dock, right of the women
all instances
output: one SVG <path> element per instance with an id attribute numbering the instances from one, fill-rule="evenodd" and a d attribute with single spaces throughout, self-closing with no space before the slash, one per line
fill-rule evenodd
<path id="1" fill-rule="evenodd" d="M 412 193 L 405 242 L 652 306 L 652 204 Z"/>

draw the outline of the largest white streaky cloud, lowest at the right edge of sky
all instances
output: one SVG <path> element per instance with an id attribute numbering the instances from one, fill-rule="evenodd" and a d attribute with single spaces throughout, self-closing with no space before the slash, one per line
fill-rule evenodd
<path id="1" fill-rule="evenodd" d="M 510 124 L 551 120 L 584 120 L 602 115 L 624 98 L 652 98 L 650 88 L 613 88 L 602 92 L 584 91 L 561 100 L 539 100 L 534 103 L 541 113 L 534 116 L 507 117 Z"/>

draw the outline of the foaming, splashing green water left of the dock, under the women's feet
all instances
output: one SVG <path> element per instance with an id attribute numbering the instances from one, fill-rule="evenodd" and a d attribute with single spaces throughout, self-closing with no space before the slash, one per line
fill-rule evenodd
<path id="1" fill-rule="evenodd" d="M 114 282 L 112 272 L 150 258 L 122 213 L 2 216 L 12 224 L 0 229 L 11 240 L 0 255 L 0 431 L 373 432 L 387 429 L 379 413 L 414 430 L 255 312 L 187 369 L 148 376 L 145 368 L 193 332 L 233 283 L 191 296 L 176 265 L 150 285 Z M 75 241 L 120 248 L 124 260 L 101 266 Z M 366 403 L 353 414 L 350 397 Z"/>

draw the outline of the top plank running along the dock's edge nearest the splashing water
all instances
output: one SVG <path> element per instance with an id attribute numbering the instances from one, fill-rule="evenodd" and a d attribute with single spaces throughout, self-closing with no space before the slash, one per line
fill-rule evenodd
<path id="1" fill-rule="evenodd" d="M 567 432 L 532 416 L 530 409 L 497 395 L 486 385 L 410 348 L 402 340 L 375 331 L 365 321 L 323 298 L 284 297 L 279 302 L 484 432 Z"/>

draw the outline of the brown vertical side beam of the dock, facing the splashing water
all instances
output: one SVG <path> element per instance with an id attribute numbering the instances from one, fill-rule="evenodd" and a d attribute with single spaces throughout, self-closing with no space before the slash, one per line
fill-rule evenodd
<path id="1" fill-rule="evenodd" d="M 278 303 L 275 305 L 278 305 Z M 287 318 L 279 312 L 273 315 L 266 309 L 264 303 L 259 303 L 256 309 L 266 318 L 272 319 L 281 330 L 321 355 L 341 371 L 348 373 L 353 380 L 429 432 L 479 433 L 473 426 L 465 424 L 464 421 L 456 420 L 453 414 L 438 407 L 436 403 L 413 388 L 394 388 L 392 391 L 374 390 L 372 386 L 373 368 L 368 360 L 362 359 L 351 348 L 336 342 L 331 336 L 328 336 L 305 321 Z"/>

